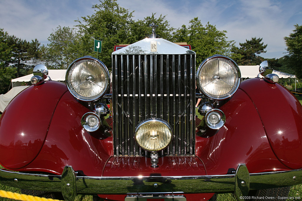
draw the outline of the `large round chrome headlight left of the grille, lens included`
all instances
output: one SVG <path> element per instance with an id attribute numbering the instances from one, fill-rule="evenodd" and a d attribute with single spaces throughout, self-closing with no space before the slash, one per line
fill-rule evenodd
<path id="1" fill-rule="evenodd" d="M 99 99 L 109 85 L 109 72 L 100 60 L 81 57 L 69 65 L 66 71 L 66 85 L 69 92 L 82 101 Z"/>

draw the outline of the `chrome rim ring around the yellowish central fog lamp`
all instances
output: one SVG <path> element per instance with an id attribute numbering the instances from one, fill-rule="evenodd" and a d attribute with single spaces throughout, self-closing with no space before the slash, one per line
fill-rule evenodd
<path id="1" fill-rule="evenodd" d="M 168 143 L 167 143 L 167 145 L 166 145 L 165 147 L 162 147 L 162 148 L 156 149 L 156 150 L 148 150 L 148 149 L 145 149 L 144 147 L 142 147 L 142 146 L 140 145 L 140 143 L 137 141 L 137 131 L 138 131 L 142 126 L 146 126 L 147 124 L 154 123 L 154 122 L 157 122 L 157 123 L 159 123 L 159 124 L 165 125 L 165 126 L 169 129 L 169 132 L 171 133 L 171 138 L 170 138 L 170 140 L 168 141 Z M 140 148 L 142 148 L 142 149 L 144 149 L 144 150 L 146 150 L 146 151 L 149 151 L 149 152 L 159 152 L 159 151 L 161 151 L 161 150 L 167 148 L 167 147 L 169 146 L 169 144 L 172 142 L 172 138 L 173 138 L 172 127 L 170 126 L 170 124 L 169 124 L 168 122 L 166 122 L 166 121 L 163 120 L 163 119 L 159 119 L 159 118 L 149 118 L 149 119 L 145 119 L 145 120 L 141 121 L 141 122 L 137 125 L 137 127 L 136 127 L 136 129 L 135 129 L 135 132 L 134 132 L 134 139 L 135 139 L 135 142 L 137 143 L 137 145 L 138 145 Z"/>

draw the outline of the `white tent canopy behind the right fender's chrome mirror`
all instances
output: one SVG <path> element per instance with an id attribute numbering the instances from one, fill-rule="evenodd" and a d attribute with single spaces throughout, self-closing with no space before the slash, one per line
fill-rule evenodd
<path id="1" fill-rule="evenodd" d="M 242 78 L 254 78 L 259 74 L 259 65 L 257 66 L 239 66 Z M 279 78 L 296 78 L 295 75 L 283 73 L 273 70 L 274 74 L 277 74 Z M 259 77 L 262 77 L 261 75 Z"/>

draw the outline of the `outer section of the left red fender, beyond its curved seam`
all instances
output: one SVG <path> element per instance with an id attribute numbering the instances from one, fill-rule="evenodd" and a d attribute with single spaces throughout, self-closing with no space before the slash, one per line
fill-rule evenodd
<path id="1" fill-rule="evenodd" d="M 0 162 L 16 170 L 40 152 L 56 105 L 67 91 L 65 84 L 47 81 L 16 96 L 0 119 Z"/>

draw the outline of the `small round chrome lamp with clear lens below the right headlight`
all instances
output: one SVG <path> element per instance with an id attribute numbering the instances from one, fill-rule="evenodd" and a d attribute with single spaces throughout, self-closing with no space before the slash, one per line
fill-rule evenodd
<path id="1" fill-rule="evenodd" d="M 226 116 L 220 109 L 212 109 L 207 112 L 205 122 L 211 129 L 219 129 L 223 127 L 226 121 Z"/>

